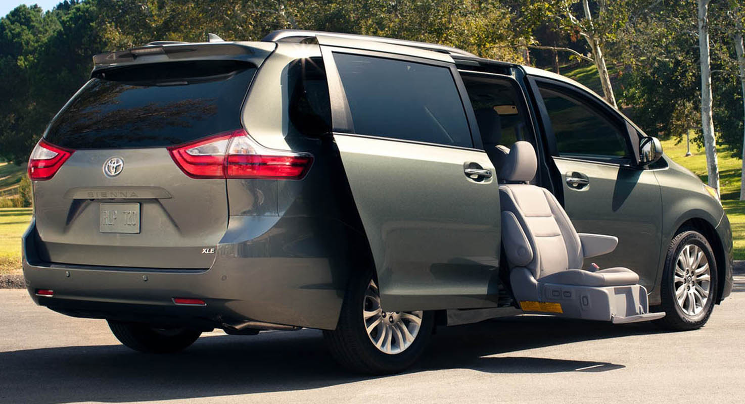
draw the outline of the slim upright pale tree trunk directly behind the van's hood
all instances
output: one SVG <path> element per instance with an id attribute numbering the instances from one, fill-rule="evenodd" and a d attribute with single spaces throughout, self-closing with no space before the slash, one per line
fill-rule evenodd
<path id="1" fill-rule="evenodd" d="M 719 163 L 717 139 L 714 138 L 714 119 L 711 118 L 711 60 L 708 51 L 708 1 L 698 0 L 699 54 L 701 60 L 701 129 L 706 150 L 708 185 L 719 191 Z"/>

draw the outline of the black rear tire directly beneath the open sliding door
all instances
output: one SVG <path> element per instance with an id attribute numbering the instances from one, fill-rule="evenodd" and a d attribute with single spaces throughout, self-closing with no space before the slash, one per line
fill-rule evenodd
<path id="1" fill-rule="evenodd" d="M 372 271 L 350 280 L 336 330 L 324 330 L 323 339 L 332 357 L 355 373 L 390 374 L 405 371 L 425 350 L 434 327 L 434 313 L 387 313 L 381 310 L 377 316 L 370 315 L 378 311 L 374 303 L 375 292 L 377 285 Z M 364 318 L 366 310 L 370 315 L 367 319 Z M 420 318 L 418 330 L 413 318 Z M 367 324 L 373 325 L 378 319 L 381 322 L 371 327 L 369 335 Z M 407 339 L 405 332 L 409 332 L 413 340 Z M 387 339 L 388 335 L 390 338 Z M 373 338 L 382 341 L 381 348 L 375 346 Z"/>

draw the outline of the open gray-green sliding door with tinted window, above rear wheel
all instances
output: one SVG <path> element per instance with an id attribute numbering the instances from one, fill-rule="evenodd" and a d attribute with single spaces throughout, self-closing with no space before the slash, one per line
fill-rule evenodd
<path id="1" fill-rule="evenodd" d="M 384 310 L 495 306 L 498 183 L 473 142 L 478 129 L 452 60 L 412 48 L 402 56 L 393 45 L 319 42 L 334 138 Z"/>

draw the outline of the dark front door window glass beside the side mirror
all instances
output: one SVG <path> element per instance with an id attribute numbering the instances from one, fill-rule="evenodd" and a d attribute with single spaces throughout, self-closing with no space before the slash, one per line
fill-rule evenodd
<path id="1" fill-rule="evenodd" d="M 539 85 L 559 156 L 617 161 L 628 158 L 626 137 L 592 104 L 565 90 Z"/>

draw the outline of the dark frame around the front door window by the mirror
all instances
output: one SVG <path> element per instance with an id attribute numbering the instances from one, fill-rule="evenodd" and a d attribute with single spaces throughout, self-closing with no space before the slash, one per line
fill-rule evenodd
<path id="1" fill-rule="evenodd" d="M 599 100 L 596 95 L 590 94 L 589 92 L 586 92 L 585 90 L 577 86 L 572 86 L 571 84 L 562 83 L 559 80 L 551 80 L 545 77 L 530 76 L 530 78 L 533 79 L 531 80 L 531 84 L 533 84 L 534 86 L 534 92 L 537 93 L 536 97 L 540 97 L 539 109 L 541 109 L 541 116 L 542 118 L 548 119 L 548 125 L 544 123 L 544 126 L 547 132 L 549 128 L 551 129 L 551 135 L 547 134 L 547 140 L 551 144 L 551 155 L 554 158 L 569 158 L 574 160 L 594 161 L 599 163 L 635 167 L 635 164 L 633 164 L 636 161 L 634 157 L 635 148 L 633 147 L 633 141 L 631 140 L 628 122 L 626 119 L 621 117 L 618 111 L 612 109 L 611 106 L 607 105 L 602 100 Z M 548 116 L 548 109 L 546 109 L 545 103 L 543 101 L 543 96 L 542 94 L 540 94 L 540 90 L 546 87 L 548 87 L 549 91 L 559 92 L 559 94 L 565 95 L 566 97 L 574 98 L 583 106 L 586 106 L 597 115 L 600 115 L 600 117 L 605 118 L 609 124 L 615 126 L 615 128 L 618 130 L 618 133 L 621 134 L 621 136 L 623 136 L 626 140 L 626 151 L 628 153 L 628 156 L 624 158 L 612 158 L 609 160 L 605 160 L 600 158 L 592 158 L 590 156 L 586 158 L 579 158 L 575 156 L 559 155 L 556 132 L 554 132 L 554 128 L 553 126 L 551 126 L 551 118 Z M 552 89 L 551 87 L 554 88 Z"/>

